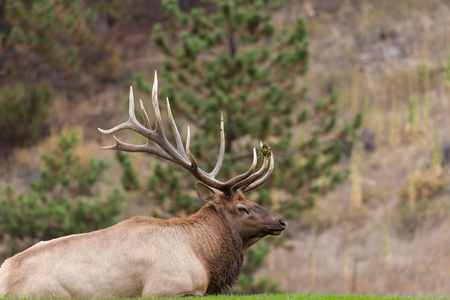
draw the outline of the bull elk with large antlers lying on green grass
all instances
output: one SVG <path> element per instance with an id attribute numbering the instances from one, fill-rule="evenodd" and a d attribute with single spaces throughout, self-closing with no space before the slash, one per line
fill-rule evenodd
<path id="1" fill-rule="evenodd" d="M 196 179 L 197 194 L 206 202 L 189 218 L 162 220 L 133 217 L 106 229 L 42 241 L 7 259 L 0 268 L 0 297 L 122 298 L 219 294 L 231 287 L 242 269 L 246 249 L 266 235 L 279 235 L 287 226 L 279 215 L 247 200 L 250 191 L 270 176 L 273 154 L 257 166 L 256 150 L 249 170 L 227 181 L 216 179 L 225 152 L 223 116 L 217 163 L 211 172 L 199 168 L 186 150 L 167 100 L 174 147 L 163 130 L 155 79 L 152 104 L 155 129 L 140 101 L 143 124 L 134 112 L 130 88 L 128 121 L 110 129 L 111 134 L 130 129 L 147 138 L 145 145 L 117 139 L 114 149 L 148 152 L 188 170 Z"/>

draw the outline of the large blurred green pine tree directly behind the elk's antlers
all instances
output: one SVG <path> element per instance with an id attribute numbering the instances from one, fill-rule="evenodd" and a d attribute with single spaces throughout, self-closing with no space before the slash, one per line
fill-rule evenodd
<path id="1" fill-rule="evenodd" d="M 264 141 L 263 149 L 274 151 L 276 168 L 272 180 L 249 197 L 296 218 L 315 204 L 317 195 L 348 176 L 338 162 L 343 144 L 357 137 L 361 118 L 339 129 L 337 91 L 328 99 L 307 98 L 307 88 L 299 85 L 310 56 L 307 22 L 298 18 L 292 28 L 275 26 L 272 16 L 283 4 L 219 0 L 207 13 L 203 8 L 182 12 L 177 1 L 164 0 L 168 20 L 154 26 L 152 39 L 166 56 L 159 94 L 169 97 L 176 117 L 182 115 L 196 127 L 192 148 L 199 161 L 216 155 L 222 111 L 226 133 L 222 176 L 243 172 L 251 147 Z M 141 75 L 135 82 L 150 94 Z M 212 168 L 214 161 L 209 164 Z M 154 187 L 167 184 L 162 180 Z M 277 290 L 265 281 L 254 282 L 253 274 L 266 253 L 262 248 L 249 253 L 239 279 L 241 291 Z"/>

